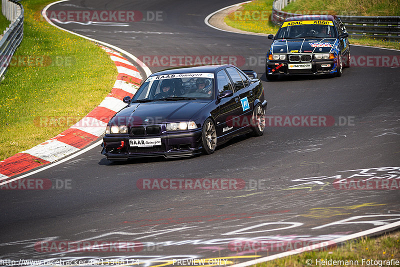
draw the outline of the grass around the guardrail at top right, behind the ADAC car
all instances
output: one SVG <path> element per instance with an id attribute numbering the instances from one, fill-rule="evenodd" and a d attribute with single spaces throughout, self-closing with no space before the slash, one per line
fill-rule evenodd
<path id="1" fill-rule="evenodd" d="M 272 2 L 273 0 L 254 0 L 249 3 L 243 4 L 235 12 L 227 15 L 224 21 L 227 25 L 241 30 L 275 34 L 279 27 L 274 26 L 272 21 L 270 21 Z M 366 2 L 365 6 L 363 4 L 364 2 Z M 349 8 L 348 6 L 351 6 L 351 8 Z M 352 8 L 352 6 L 355 6 L 356 9 Z M 400 1 L 296 0 L 288 4 L 283 10 L 287 12 L 306 14 L 340 14 L 340 12 L 343 12 L 343 10 L 356 10 L 355 14 L 362 15 L 377 15 L 383 13 L 385 15 L 399 15 Z M 400 42 L 384 41 L 371 37 L 349 38 L 349 42 L 350 44 L 400 49 Z"/>

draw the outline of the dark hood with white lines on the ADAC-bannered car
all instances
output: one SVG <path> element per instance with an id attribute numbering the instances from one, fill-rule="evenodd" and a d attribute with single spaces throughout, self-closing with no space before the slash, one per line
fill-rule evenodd
<path id="1" fill-rule="evenodd" d="M 335 38 L 279 39 L 272 43 L 272 53 L 329 53 Z"/>

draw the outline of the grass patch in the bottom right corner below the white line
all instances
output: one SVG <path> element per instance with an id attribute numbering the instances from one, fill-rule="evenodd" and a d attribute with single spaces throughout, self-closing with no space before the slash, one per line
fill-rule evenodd
<path id="1" fill-rule="evenodd" d="M 364 237 L 359 240 L 351 240 L 333 250 L 304 252 L 297 255 L 259 263 L 254 266 L 390 266 L 395 264 L 384 264 L 383 261 L 379 260 L 394 259 L 400 261 L 399 240 L 400 231 L 395 231 L 376 238 Z M 332 261 L 330 264 L 327 262 L 320 262 L 319 264 L 316 264 L 317 259 L 331 259 Z M 362 259 L 364 259 L 364 262 L 362 262 Z M 333 260 L 337 260 L 336 263 L 333 263 Z M 339 262 L 339 260 L 342 262 Z M 367 260 L 376 261 L 367 264 Z M 307 264 L 307 262 L 311 262 L 311 264 Z"/>

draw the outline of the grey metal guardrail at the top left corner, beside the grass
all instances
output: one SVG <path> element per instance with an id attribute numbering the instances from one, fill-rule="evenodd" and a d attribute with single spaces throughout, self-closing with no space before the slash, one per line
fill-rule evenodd
<path id="1" fill-rule="evenodd" d="M 1 0 L 1 13 L 11 21 L 0 39 L 0 81 L 23 37 L 23 7 L 14 0 Z"/>

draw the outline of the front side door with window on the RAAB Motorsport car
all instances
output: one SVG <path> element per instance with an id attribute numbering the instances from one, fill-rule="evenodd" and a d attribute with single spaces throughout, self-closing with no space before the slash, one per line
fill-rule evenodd
<path id="1" fill-rule="evenodd" d="M 225 90 L 233 91 L 232 96 L 219 100 L 218 115 L 215 117 L 217 136 L 226 139 L 238 128 L 242 108 L 234 86 L 224 69 L 216 73 L 216 88 L 218 94 Z"/>

